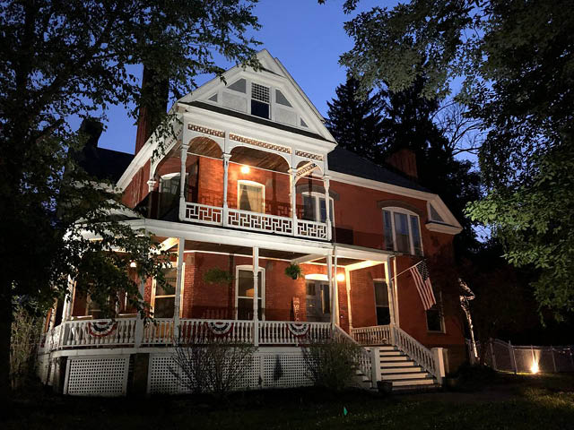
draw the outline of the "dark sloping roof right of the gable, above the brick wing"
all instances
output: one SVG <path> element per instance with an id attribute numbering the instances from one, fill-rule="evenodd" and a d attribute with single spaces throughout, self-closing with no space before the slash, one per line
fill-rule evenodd
<path id="1" fill-rule="evenodd" d="M 334 170 L 335 172 L 431 193 L 429 189 L 393 172 L 390 168 L 380 166 L 369 159 L 363 159 L 360 155 L 339 146 L 329 152 L 327 160 L 329 170 Z"/>

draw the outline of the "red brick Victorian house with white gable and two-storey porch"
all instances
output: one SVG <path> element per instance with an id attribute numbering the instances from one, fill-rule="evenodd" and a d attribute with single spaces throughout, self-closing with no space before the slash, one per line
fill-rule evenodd
<path id="1" fill-rule="evenodd" d="M 465 359 L 457 308 L 435 287 L 425 310 L 409 271 L 438 256 L 451 264 L 457 219 L 418 184 L 410 152 L 381 167 L 338 148 L 283 64 L 258 57 L 262 71 L 234 67 L 171 107 L 164 155 L 153 157 L 145 116 L 134 156 L 84 150 L 83 167 L 117 181 L 126 206 L 145 214 L 126 223 L 173 253 L 173 288 L 142 282 L 156 321 L 144 326 L 127 306 L 99 318 L 71 282 L 40 348 L 40 375 L 57 390 L 185 391 L 169 371 L 174 337 L 205 333 L 257 345 L 242 388 L 308 384 L 298 345 L 334 333 L 364 346 L 365 388 L 437 385 Z M 302 270 L 295 280 L 290 265 Z M 213 269 L 233 280 L 206 282 Z M 288 369 L 279 379 L 277 363 Z"/>

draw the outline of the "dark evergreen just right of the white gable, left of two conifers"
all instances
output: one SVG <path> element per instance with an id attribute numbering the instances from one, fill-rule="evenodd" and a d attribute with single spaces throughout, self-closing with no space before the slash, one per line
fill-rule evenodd
<path id="1" fill-rule="evenodd" d="M 361 99 L 359 82 L 351 76 L 336 88 L 335 93 L 336 98 L 327 101 L 326 127 L 342 148 L 376 159 L 382 138 L 378 95 Z"/>

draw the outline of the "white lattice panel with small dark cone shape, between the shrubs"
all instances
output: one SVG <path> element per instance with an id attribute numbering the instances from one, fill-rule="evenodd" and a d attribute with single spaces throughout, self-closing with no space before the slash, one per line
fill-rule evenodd
<path id="1" fill-rule="evenodd" d="M 263 359 L 263 386 L 272 388 L 303 387 L 312 385 L 305 360 L 300 354 L 265 355 Z"/>

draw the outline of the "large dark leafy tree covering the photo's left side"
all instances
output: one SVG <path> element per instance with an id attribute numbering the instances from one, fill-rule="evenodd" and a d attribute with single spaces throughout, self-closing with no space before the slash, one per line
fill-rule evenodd
<path id="1" fill-rule="evenodd" d="M 102 298 L 98 288 L 124 289 L 137 297 L 135 282 L 125 274 L 132 260 L 140 276 L 161 276 L 161 263 L 150 257 L 151 238 L 110 217 L 118 209 L 117 195 L 94 186 L 74 168 L 67 152 L 77 150 L 85 136 L 74 133 L 68 119 L 97 112 L 105 118 L 106 108 L 118 103 L 150 106 L 157 112 L 156 94 L 140 90 L 127 72 L 129 64 L 145 64 L 151 81 L 167 80 L 176 97 L 193 88 L 197 73 L 222 73 L 214 51 L 257 68 L 257 42 L 245 36 L 258 28 L 254 3 L 22 0 L 0 6 L 3 399 L 13 297 L 44 303 L 63 297 L 67 276 L 76 278 L 79 271 L 87 293 Z M 165 133 L 173 121 L 164 120 Z M 110 253 L 113 249 L 124 252 Z"/>

